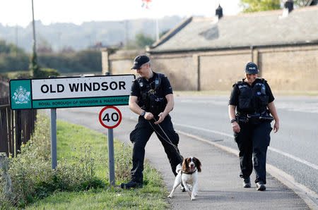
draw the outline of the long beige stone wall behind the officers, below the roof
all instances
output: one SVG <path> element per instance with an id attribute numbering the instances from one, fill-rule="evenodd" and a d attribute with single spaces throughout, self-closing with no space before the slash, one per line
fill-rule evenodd
<path id="1" fill-rule="evenodd" d="M 112 74 L 131 74 L 134 57 L 145 51 L 117 51 L 108 58 Z M 318 90 L 318 45 L 151 54 L 151 69 L 164 73 L 175 90 L 230 90 L 245 76 L 247 62 L 273 90 Z M 104 71 L 104 68 L 103 68 Z M 108 71 L 108 70 L 107 70 Z"/>

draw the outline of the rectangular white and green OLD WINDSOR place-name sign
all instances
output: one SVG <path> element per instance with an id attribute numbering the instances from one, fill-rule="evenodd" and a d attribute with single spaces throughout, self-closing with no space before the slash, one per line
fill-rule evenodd
<path id="1" fill-rule="evenodd" d="M 10 80 L 11 109 L 128 105 L 135 75 Z"/>

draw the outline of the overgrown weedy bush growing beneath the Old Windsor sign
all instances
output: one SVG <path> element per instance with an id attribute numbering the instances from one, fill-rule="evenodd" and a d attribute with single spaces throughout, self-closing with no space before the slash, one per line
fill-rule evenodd
<path id="1" fill-rule="evenodd" d="M 21 146 L 16 158 L 9 157 L 9 171 L 13 197 L 4 196 L 0 187 L 0 203 L 25 207 L 35 199 L 47 197 L 55 191 L 78 191 L 105 187 L 105 183 L 95 176 L 95 158 L 92 147 L 83 144 L 73 163 L 59 160 L 55 170 L 48 161 L 50 154 L 49 121 L 43 115 L 37 116 L 35 134 L 27 144 Z"/>

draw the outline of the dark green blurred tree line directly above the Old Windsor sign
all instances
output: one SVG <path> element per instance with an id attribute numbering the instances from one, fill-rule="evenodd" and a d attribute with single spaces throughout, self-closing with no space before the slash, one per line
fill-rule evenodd
<path id="1" fill-rule="evenodd" d="M 102 56 L 98 50 L 72 53 L 53 53 L 43 47 L 38 50 L 40 53 L 29 56 L 16 45 L 0 40 L 0 73 L 30 70 L 34 78 L 46 78 L 58 75 L 56 70 L 61 73 L 102 71 Z M 49 74 L 47 70 L 43 72 L 43 68 L 56 70 Z"/>

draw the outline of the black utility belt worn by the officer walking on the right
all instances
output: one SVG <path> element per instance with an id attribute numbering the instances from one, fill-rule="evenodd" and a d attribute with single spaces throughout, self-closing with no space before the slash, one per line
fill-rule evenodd
<path id="1" fill-rule="evenodd" d="M 236 120 L 241 123 L 259 124 L 262 122 L 271 122 L 274 118 L 270 116 L 269 111 L 266 110 L 262 113 L 237 113 Z"/>

